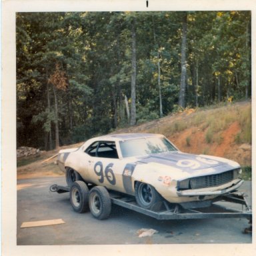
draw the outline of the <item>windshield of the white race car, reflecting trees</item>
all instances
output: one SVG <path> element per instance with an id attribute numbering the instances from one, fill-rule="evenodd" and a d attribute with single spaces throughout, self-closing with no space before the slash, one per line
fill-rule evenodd
<path id="1" fill-rule="evenodd" d="M 135 157 L 177 151 L 177 149 L 165 137 L 149 137 L 120 141 L 123 157 Z"/>

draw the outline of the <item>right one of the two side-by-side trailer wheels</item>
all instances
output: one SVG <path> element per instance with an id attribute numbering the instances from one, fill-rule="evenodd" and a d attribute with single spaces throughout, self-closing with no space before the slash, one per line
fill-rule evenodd
<path id="1" fill-rule="evenodd" d="M 111 213 L 111 199 L 105 187 L 93 187 L 89 193 L 89 208 L 96 219 L 107 219 Z"/>

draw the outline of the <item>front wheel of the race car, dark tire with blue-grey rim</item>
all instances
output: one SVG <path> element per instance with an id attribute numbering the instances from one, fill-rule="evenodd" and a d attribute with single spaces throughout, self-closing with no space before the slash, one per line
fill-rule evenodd
<path id="1" fill-rule="evenodd" d="M 135 199 L 144 209 L 157 211 L 161 208 L 162 198 L 155 188 L 147 183 L 135 183 Z"/>

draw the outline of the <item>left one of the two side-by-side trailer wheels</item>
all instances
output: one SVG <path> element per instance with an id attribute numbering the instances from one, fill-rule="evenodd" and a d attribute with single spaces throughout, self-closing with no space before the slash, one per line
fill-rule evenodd
<path id="1" fill-rule="evenodd" d="M 75 181 L 70 189 L 70 203 L 77 213 L 89 210 L 89 189 L 83 181 Z"/>

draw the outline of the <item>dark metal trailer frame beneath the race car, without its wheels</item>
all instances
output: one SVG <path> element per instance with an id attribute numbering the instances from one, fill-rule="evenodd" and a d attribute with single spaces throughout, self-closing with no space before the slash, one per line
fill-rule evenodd
<path id="1" fill-rule="evenodd" d="M 52 185 L 50 187 L 50 191 L 57 193 L 66 193 L 70 190 L 70 187 L 62 185 Z M 108 191 L 108 193 L 112 204 L 119 205 L 132 211 L 137 211 L 138 213 L 142 213 L 155 219 L 246 218 L 249 220 L 251 225 L 252 211 L 251 206 L 247 201 L 247 195 L 238 191 L 217 197 L 210 207 L 184 209 L 177 204 L 171 204 L 167 201 L 163 201 L 163 205 L 158 211 L 140 207 L 136 203 L 135 197 L 117 193 L 115 191 Z M 230 205 L 236 205 L 236 207 L 230 207 Z M 238 209 L 237 205 L 240 205 L 241 209 Z M 252 228 L 250 226 L 245 230 L 250 232 L 251 229 Z"/>

